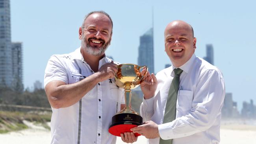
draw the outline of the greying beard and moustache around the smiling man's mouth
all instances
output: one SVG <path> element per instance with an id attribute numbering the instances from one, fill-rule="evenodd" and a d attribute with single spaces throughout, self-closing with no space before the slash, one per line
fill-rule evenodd
<path id="1" fill-rule="evenodd" d="M 102 42 L 102 46 L 101 47 L 96 47 L 96 46 L 92 47 L 92 46 L 90 46 L 89 45 L 89 41 L 91 39 L 95 39 L 95 40 L 101 41 Z M 85 39 L 85 37 L 82 36 L 81 46 L 82 46 L 82 48 L 84 48 L 84 50 L 88 54 L 93 55 L 93 56 L 101 56 L 107 50 L 107 48 L 109 46 L 109 43 L 110 43 L 110 41 L 105 43 L 105 41 L 103 39 L 96 39 L 95 37 L 94 38 Z"/>

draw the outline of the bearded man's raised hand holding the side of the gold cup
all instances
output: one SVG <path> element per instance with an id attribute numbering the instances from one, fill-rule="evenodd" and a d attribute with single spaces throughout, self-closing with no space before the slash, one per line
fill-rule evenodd
<path id="1" fill-rule="evenodd" d="M 99 76 L 100 81 L 105 81 L 106 79 L 113 78 L 117 70 L 117 65 L 114 64 L 113 61 L 111 61 L 111 63 L 106 63 L 102 65 L 98 72 L 96 72 L 95 74 Z"/>

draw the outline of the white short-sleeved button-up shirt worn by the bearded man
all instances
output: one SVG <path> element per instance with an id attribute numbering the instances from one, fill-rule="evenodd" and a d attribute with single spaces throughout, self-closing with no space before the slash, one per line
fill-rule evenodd
<path id="1" fill-rule="evenodd" d="M 52 55 L 45 69 L 44 85 L 59 80 L 76 83 L 94 72 L 76 49 L 70 54 Z M 99 68 L 111 59 L 104 57 Z M 116 137 L 108 132 L 111 119 L 124 103 L 123 89 L 108 79 L 95 85 L 83 98 L 70 107 L 52 108 L 51 144 L 115 144 Z"/>

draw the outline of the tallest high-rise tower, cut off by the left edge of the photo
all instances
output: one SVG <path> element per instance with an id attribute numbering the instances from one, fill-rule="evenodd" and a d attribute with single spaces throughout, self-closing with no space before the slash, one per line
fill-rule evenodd
<path id="1" fill-rule="evenodd" d="M 10 1 L 0 0 L 0 86 L 12 86 Z"/>

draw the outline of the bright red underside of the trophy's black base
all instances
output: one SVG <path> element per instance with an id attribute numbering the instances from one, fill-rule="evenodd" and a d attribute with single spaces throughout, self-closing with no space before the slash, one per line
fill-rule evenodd
<path id="1" fill-rule="evenodd" d="M 132 132 L 130 129 L 133 128 L 133 127 L 136 127 L 136 126 L 137 125 L 134 125 L 134 124 L 119 124 L 119 125 L 116 125 L 116 126 L 109 127 L 108 131 L 112 135 L 121 137 L 121 135 L 120 135 L 121 133 Z M 136 137 L 140 136 L 139 133 L 134 133 L 134 135 Z"/>

